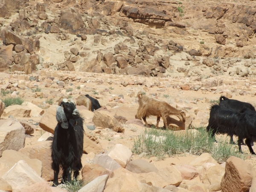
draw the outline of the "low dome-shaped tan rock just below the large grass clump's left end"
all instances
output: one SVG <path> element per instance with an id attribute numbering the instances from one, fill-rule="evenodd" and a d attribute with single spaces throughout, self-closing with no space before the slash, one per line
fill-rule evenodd
<path id="1" fill-rule="evenodd" d="M 158 172 L 158 169 L 153 164 L 148 163 L 148 161 L 143 159 L 130 161 L 125 169 L 133 173 Z"/>

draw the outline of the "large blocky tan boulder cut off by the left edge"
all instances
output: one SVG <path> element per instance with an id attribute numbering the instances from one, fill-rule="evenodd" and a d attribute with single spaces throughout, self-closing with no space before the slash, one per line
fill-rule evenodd
<path id="1" fill-rule="evenodd" d="M 25 129 L 14 120 L 0 120 L 0 151 L 18 151 L 25 145 Z"/>

